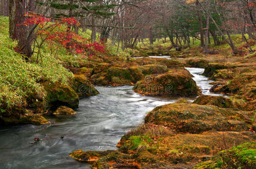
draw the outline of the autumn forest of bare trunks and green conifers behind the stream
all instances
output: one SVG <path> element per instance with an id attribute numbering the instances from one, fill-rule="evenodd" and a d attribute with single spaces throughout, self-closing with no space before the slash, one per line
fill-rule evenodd
<path id="1" fill-rule="evenodd" d="M 105 42 L 110 39 L 109 46 L 116 46 L 117 51 L 135 48 L 139 43 L 144 45 L 145 41 L 152 45 L 159 40 L 168 41 L 169 49 L 179 49 L 181 46 L 191 47 L 199 40 L 206 53 L 214 52 L 208 44 L 220 46 L 224 42 L 231 47 L 233 54 L 241 54 L 232 34 L 240 34 L 250 52 L 253 52 L 251 46 L 256 39 L 254 0 L 1 0 L 0 6 L 0 15 L 10 17 L 10 37 L 13 39 L 19 38 L 13 34 L 18 29 L 15 24 L 22 23 L 23 15 L 28 11 L 53 19 L 75 17 L 80 23 L 71 26 L 75 33 L 79 30 L 88 32 L 89 29 L 92 42 L 96 38 Z"/>

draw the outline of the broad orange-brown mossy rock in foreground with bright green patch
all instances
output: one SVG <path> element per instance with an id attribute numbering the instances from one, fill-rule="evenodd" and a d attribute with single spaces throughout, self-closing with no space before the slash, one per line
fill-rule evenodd
<path id="1" fill-rule="evenodd" d="M 95 158 L 94 152 L 83 152 L 82 154 L 86 154 L 86 159 L 88 156 L 93 157 L 91 159 L 96 159 L 96 161 L 92 161 L 92 168 L 191 168 L 198 162 L 209 160 L 212 154 L 215 155 L 224 148 L 255 139 L 255 134 L 250 134 L 250 132 L 231 131 L 208 131 L 202 134 L 170 136 L 157 131 L 159 126 L 152 125 L 151 127 L 152 133 L 144 131 L 146 135 L 136 135 L 134 132 L 134 135 L 131 136 L 128 133 L 122 137 L 120 149 L 108 154 L 104 151 L 102 152 L 102 154 L 106 154 L 104 157 L 99 155 Z M 170 129 L 167 128 L 167 130 Z M 160 134 L 155 136 L 156 132 Z M 223 137 L 225 142 L 223 142 Z M 134 144 L 138 144 L 135 149 Z M 80 152 L 80 150 L 78 151 Z M 91 153 L 93 154 L 91 155 Z M 78 160 L 80 159 L 83 161 L 83 158 L 78 158 Z"/>

